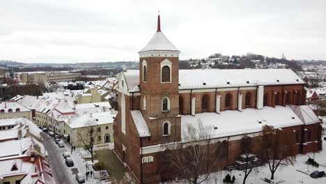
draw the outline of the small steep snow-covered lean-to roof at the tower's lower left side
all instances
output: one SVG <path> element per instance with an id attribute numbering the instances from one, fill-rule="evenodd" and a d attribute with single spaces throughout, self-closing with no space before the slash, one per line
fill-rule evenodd
<path id="1" fill-rule="evenodd" d="M 134 125 L 136 125 L 139 137 L 150 136 L 150 131 L 148 129 L 147 123 L 143 118 L 143 114 L 139 110 L 130 111 L 132 114 L 132 119 L 134 120 Z"/>

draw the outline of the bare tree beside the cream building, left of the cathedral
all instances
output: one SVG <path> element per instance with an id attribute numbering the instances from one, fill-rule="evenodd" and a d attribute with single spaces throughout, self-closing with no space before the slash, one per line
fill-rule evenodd
<path id="1" fill-rule="evenodd" d="M 91 153 L 92 162 L 94 162 L 93 148 L 95 139 L 97 139 L 99 131 L 96 128 L 96 120 L 90 120 L 84 125 L 84 128 L 78 130 L 79 141 L 84 145 L 89 153 Z"/>

